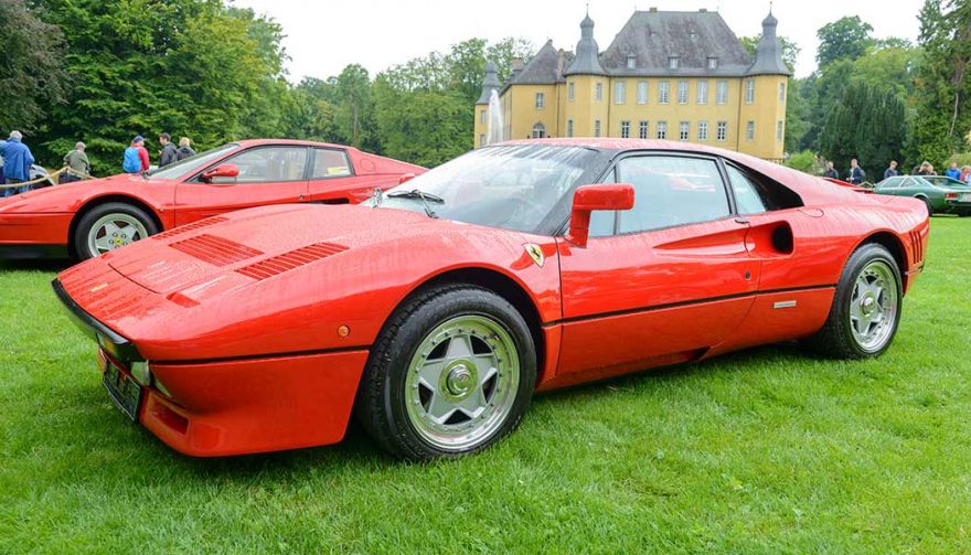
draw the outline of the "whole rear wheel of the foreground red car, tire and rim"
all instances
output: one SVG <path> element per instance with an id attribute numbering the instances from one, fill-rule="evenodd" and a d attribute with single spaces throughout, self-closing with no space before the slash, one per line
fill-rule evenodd
<path id="1" fill-rule="evenodd" d="M 826 323 L 807 343 L 839 359 L 877 356 L 897 333 L 903 297 L 893 255 L 883 245 L 863 245 L 843 268 Z"/>

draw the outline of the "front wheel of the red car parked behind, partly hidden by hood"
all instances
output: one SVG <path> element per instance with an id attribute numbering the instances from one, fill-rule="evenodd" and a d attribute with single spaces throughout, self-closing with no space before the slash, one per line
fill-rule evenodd
<path id="1" fill-rule="evenodd" d="M 74 233 L 74 252 L 82 260 L 124 247 L 159 233 L 143 210 L 121 202 L 109 202 L 85 213 Z"/>

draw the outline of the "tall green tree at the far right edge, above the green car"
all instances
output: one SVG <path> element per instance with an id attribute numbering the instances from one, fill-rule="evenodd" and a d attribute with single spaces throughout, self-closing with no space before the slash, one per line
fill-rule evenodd
<path id="1" fill-rule="evenodd" d="M 920 10 L 921 63 L 917 71 L 916 150 L 941 161 L 961 146 L 971 127 L 971 3 L 927 0 Z"/>

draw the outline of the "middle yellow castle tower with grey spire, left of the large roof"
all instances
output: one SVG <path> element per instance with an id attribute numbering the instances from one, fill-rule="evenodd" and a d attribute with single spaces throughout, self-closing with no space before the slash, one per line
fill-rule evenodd
<path id="1" fill-rule="evenodd" d="M 563 73 L 566 77 L 565 135 L 606 136 L 610 125 L 610 79 L 600 65 L 600 47 L 594 39 L 594 20 L 589 13 L 580 22 L 576 56 Z"/>

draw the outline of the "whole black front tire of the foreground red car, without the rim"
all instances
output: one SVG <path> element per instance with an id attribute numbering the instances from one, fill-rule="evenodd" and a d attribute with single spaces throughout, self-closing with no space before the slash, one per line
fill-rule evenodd
<path id="1" fill-rule="evenodd" d="M 417 429 L 414 417 L 409 417 L 406 377 L 418 348 L 431 337 L 429 334 L 448 321 L 467 316 L 484 317 L 508 332 L 519 355 L 519 378 L 510 384 L 515 391 L 505 393 L 510 403 L 505 404 L 504 420 L 498 419 L 492 431 L 474 445 L 445 449 L 427 440 Z M 488 289 L 447 284 L 419 290 L 385 323 L 361 378 L 355 413 L 367 433 L 394 456 L 419 461 L 460 457 L 481 451 L 515 429 L 530 406 L 535 383 L 536 350 L 519 311 Z M 484 392 L 484 386 L 482 388 Z"/>

